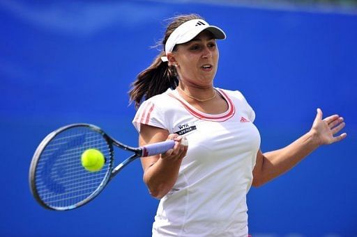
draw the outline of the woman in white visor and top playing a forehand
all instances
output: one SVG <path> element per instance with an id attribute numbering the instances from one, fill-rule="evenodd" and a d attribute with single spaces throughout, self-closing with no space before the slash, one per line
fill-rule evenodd
<path id="1" fill-rule="evenodd" d="M 223 39 L 220 28 L 198 15 L 175 17 L 162 41 L 165 51 L 130 91 L 139 107 L 133 120 L 139 145 L 176 141 L 165 154 L 142 158 L 144 182 L 160 199 L 153 236 L 247 236 L 250 186 L 261 186 L 320 145 L 347 136 L 333 136 L 344 127 L 342 117 L 322 120 L 317 109 L 309 132 L 263 154 L 252 123 L 255 112 L 245 97 L 213 87 L 216 40 Z"/>

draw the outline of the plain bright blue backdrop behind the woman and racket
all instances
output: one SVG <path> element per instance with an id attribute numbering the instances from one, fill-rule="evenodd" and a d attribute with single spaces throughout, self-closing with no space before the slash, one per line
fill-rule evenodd
<path id="1" fill-rule="evenodd" d="M 89 205 L 47 211 L 31 196 L 38 143 L 86 122 L 137 145 L 128 90 L 158 54 L 163 19 L 198 13 L 222 27 L 215 86 L 241 90 L 264 152 L 310 129 L 316 108 L 347 122 L 317 149 L 248 194 L 253 236 L 357 236 L 357 15 L 163 1 L 0 1 L 1 236 L 150 236 L 158 201 L 132 163 Z M 116 161 L 125 158 L 116 150 Z M 219 194 L 218 194 L 219 195 Z"/>

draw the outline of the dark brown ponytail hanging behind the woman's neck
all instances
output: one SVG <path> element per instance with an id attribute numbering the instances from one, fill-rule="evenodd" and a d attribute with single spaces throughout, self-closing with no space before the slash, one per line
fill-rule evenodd
<path id="1" fill-rule="evenodd" d="M 162 51 L 146 70 L 137 75 L 137 79 L 131 84 L 132 89 L 129 91 L 129 96 L 130 102 L 135 102 L 135 108 L 139 108 L 142 99 L 146 100 L 154 95 L 159 95 L 168 88 L 174 89 L 179 84 L 174 67 L 169 67 L 167 62 L 161 60 L 161 57 L 165 55 L 165 51 Z"/>

